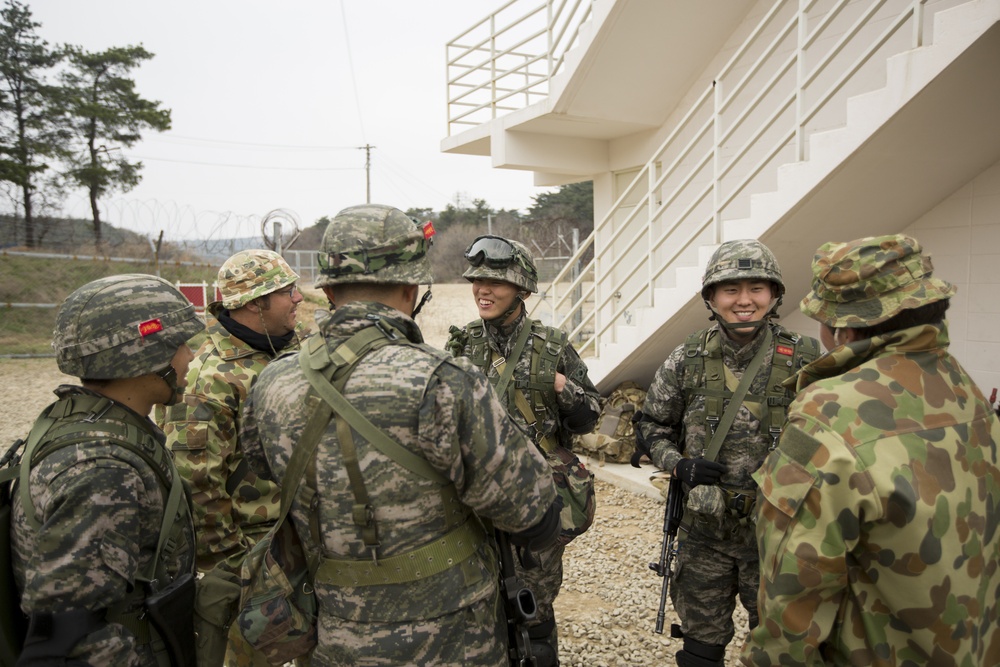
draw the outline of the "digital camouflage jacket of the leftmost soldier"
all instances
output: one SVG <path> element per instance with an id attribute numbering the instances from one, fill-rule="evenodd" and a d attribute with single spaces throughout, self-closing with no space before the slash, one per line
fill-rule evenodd
<path id="1" fill-rule="evenodd" d="M 49 454 L 44 454 L 46 439 L 40 441 L 42 457 L 31 467 L 28 508 L 41 523 L 39 529 L 25 515 L 20 489 L 13 495 L 11 551 L 21 607 L 29 614 L 112 608 L 132 611 L 141 623 L 148 591 L 136 577 L 156 553 L 168 490 L 161 477 L 170 479 L 172 466 L 164 450 L 157 457 L 161 469 L 154 471 L 139 454 L 110 439 L 107 424 L 121 424 L 131 436 L 128 441 L 146 451 L 163 448 L 163 433 L 147 417 L 83 387 L 63 385 L 56 395 L 59 400 L 44 414 L 74 423 L 94 418 L 91 409 L 78 412 L 75 404 L 92 406 L 95 397 L 106 403 L 93 432 L 74 435 L 92 435 L 92 440 Z M 160 554 L 171 577 L 194 572 L 187 502 L 181 503 L 181 513 L 171 529 L 170 547 Z M 80 640 L 68 664 L 156 665 L 148 636 L 134 634 L 137 620 L 132 618 L 127 627 L 116 618 L 109 615 L 106 624 Z M 148 633 L 148 625 L 142 627 Z"/>

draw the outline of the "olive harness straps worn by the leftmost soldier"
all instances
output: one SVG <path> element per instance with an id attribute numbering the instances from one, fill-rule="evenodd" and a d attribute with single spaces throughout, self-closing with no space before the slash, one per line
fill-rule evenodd
<path id="1" fill-rule="evenodd" d="M 151 591 L 166 587 L 176 576 L 167 570 L 166 563 L 177 546 L 185 541 L 184 527 L 191 521 L 189 501 L 183 482 L 174 467 L 166 448 L 145 429 L 138 427 L 135 417 L 123 406 L 109 398 L 92 394 L 72 394 L 49 406 L 32 426 L 20 466 L 4 470 L 2 481 L 14 479 L 25 517 L 32 528 L 41 524 L 34 511 L 29 476 L 31 468 L 50 454 L 73 445 L 106 440 L 141 458 L 156 474 L 164 499 L 164 515 L 160 524 L 157 550 L 148 565 L 136 572 L 136 582 L 128 596 L 107 608 L 108 623 L 118 623 L 129 630 L 140 645 L 153 643 L 157 665 L 171 665 L 169 655 L 155 628 L 146 617 L 144 601 Z M 15 445 L 16 446 L 16 445 Z M 19 468 L 19 471 L 17 470 Z M 92 632 L 99 625 L 88 630 Z"/>

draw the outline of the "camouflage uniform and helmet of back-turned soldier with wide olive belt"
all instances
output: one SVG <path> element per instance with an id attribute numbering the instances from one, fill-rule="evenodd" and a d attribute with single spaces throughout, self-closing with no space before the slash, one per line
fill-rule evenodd
<path id="1" fill-rule="evenodd" d="M 412 221 L 396 209 L 369 205 L 342 211 L 324 235 L 324 276 L 317 284 L 429 283 L 426 243 L 416 234 Z M 319 335 L 333 351 L 362 329 L 386 325 L 411 343 L 422 343 L 411 318 L 378 302 L 338 302 Z M 312 413 L 309 393 L 296 356 L 278 359 L 261 373 L 244 410 L 241 436 L 251 468 L 281 481 Z M 555 492 L 544 459 L 529 448 L 489 383 L 467 362 L 425 345 L 388 345 L 361 359 L 343 393 L 377 428 L 450 480 L 457 493 L 457 505 L 446 506 L 437 483 L 402 467 L 355 432 L 378 528 L 378 559 L 442 537 L 455 511 L 509 531 L 527 529 L 547 514 Z M 314 557 L 371 562 L 373 554 L 352 518 L 356 500 L 341 444 L 331 422 L 310 473 L 320 491 L 318 503 L 293 502 L 290 516 Z M 310 530 L 311 518 L 318 519 L 318 535 Z M 314 587 L 319 604 L 314 667 L 507 664 L 491 540 L 469 559 L 422 580 L 350 586 L 319 576 Z"/>

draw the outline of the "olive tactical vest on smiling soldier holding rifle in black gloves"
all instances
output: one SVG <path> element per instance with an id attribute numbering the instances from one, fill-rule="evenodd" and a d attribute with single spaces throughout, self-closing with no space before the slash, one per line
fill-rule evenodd
<path id="1" fill-rule="evenodd" d="M 794 390 L 786 389 L 782 383 L 819 356 L 819 343 L 780 326 L 768 326 L 773 334 L 774 350 L 767 389 L 763 396 L 747 394 L 743 405 L 760 420 L 761 432 L 770 436 L 771 449 L 774 449 L 785 425 L 788 405 L 795 396 Z M 718 329 L 705 329 L 689 335 L 684 341 L 684 401 L 690 405 L 693 397 L 705 397 L 705 412 L 699 417 L 708 439 L 722 419 L 726 401 L 733 396 L 733 389 L 726 382 L 726 375 L 731 376 L 731 371 L 723 362 L 719 336 Z M 733 380 L 731 378 L 728 385 L 735 384 Z"/>

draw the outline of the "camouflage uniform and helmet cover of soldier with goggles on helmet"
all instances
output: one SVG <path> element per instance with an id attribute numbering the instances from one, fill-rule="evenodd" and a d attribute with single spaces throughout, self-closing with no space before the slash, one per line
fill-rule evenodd
<path id="1" fill-rule="evenodd" d="M 481 264 L 466 270 L 463 274 L 464 277 L 470 282 L 476 278 L 500 280 L 528 292 L 537 291 L 537 271 L 527 248 L 517 241 L 507 239 L 503 239 L 503 241 L 517 248 L 523 258 L 519 261 L 523 264 L 518 263 L 518 260 L 503 268 L 490 268 Z M 507 363 L 515 363 L 508 391 L 505 396 L 501 397 L 506 404 L 507 415 L 525 435 L 534 438 L 536 442 L 541 437 L 548 436 L 552 438 L 554 443 L 558 443 L 552 451 L 546 453 L 551 465 L 582 467 L 579 458 L 570 451 L 572 436 L 576 433 L 589 433 L 593 430 L 600 414 L 600 393 L 587 375 L 586 364 L 580 359 L 572 344 L 566 344 L 559 353 L 555 368 L 557 372 L 566 376 L 566 386 L 558 394 L 551 384 L 544 387 L 545 410 L 539 412 L 537 408 L 533 409 L 532 414 L 537 421 L 534 426 L 528 424 L 515 404 L 514 392 L 520 391 L 524 396 L 530 395 L 527 388 L 532 386 L 533 380 L 531 377 L 532 356 L 537 354 L 534 339 L 540 339 L 541 345 L 554 343 L 554 341 L 547 340 L 547 337 L 552 333 L 548 327 L 525 315 L 523 301 L 515 303 L 520 303 L 522 307 L 520 314 L 513 322 L 509 324 L 498 323 L 497 320 L 506 319 L 505 314 L 502 314 L 495 320 L 475 320 L 461 330 L 452 327 L 451 336 L 445 347 L 456 357 L 471 359 L 486 374 L 494 388 L 500 380 L 501 373 L 492 364 L 492 361 L 503 358 L 507 359 Z M 524 346 L 521 356 L 516 360 L 510 360 L 508 357 L 513 354 L 515 341 L 521 334 L 523 327 L 530 327 L 531 338 Z M 470 335 L 470 332 L 474 333 Z M 477 338 L 482 340 L 477 341 Z M 476 350 L 477 342 L 485 344 L 486 349 Z M 553 653 L 557 652 L 558 644 L 553 603 L 562 587 L 562 559 L 565 548 L 565 544 L 557 543 L 533 554 L 536 563 L 529 563 L 531 567 L 525 567 L 521 559 L 514 559 L 518 578 L 535 594 L 538 606 L 537 616 L 531 623 L 532 627 L 529 628 L 531 638 L 541 641 L 549 640 Z"/>

